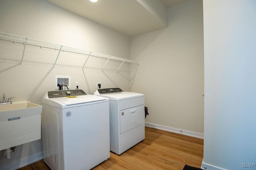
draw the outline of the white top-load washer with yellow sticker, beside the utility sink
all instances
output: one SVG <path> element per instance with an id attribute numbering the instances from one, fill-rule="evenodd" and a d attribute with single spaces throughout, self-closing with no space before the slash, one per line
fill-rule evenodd
<path id="1" fill-rule="evenodd" d="M 44 162 L 52 170 L 88 170 L 110 157 L 107 98 L 48 91 L 42 106 Z"/>

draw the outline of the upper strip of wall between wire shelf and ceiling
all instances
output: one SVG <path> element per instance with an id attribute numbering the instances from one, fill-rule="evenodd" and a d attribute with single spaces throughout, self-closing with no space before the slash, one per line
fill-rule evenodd
<path id="1" fill-rule="evenodd" d="M 44 0 L 0 0 L 0 31 L 129 59 L 130 38 Z"/>

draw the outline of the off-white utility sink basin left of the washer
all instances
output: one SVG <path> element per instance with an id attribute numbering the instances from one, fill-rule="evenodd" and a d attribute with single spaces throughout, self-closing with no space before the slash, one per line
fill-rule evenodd
<path id="1" fill-rule="evenodd" d="M 29 101 L 0 105 L 0 150 L 41 139 L 42 106 Z"/>

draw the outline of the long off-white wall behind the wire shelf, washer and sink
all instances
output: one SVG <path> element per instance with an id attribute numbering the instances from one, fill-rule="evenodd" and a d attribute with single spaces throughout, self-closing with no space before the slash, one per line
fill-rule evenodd
<path id="1" fill-rule="evenodd" d="M 43 0 L 0 0 L 0 16 L 1 32 L 115 57 L 130 57 L 129 37 Z M 88 94 L 94 93 L 96 82 L 102 82 L 102 88 L 120 87 L 130 91 L 129 64 L 124 64 L 116 73 L 114 69 L 121 63 L 110 61 L 106 70 L 101 72 L 99 68 L 106 60 L 92 58 L 83 72 L 78 65 L 84 64 L 85 57 L 67 57 L 63 53 L 53 69 L 55 52 L 47 55 L 47 49 L 40 51 L 28 47 L 26 50 L 30 52 L 25 52 L 23 66 L 20 66 L 23 45 L 20 50 L 10 50 L 15 45 L 20 46 L 0 41 L 0 94 L 5 93 L 6 98 L 15 96 L 13 101 L 29 100 L 40 104 L 47 91 L 55 90 L 55 75 L 71 76 L 71 88 L 74 89 L 75 82 L 79 82 L 79 88 Z M 2 97 L 0 100 L 2 102 Z M 37 158 L 42 159 L 41 140 L 17 146 L 10 160 L 6 160 L 0 151 L 0 169 L 16 168 Z"/>

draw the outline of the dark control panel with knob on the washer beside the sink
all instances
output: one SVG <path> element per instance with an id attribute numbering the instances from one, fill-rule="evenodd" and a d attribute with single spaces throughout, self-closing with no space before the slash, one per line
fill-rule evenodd
<path id="1" fill-rule="evenodd" d="M 70 96 L 81 96 L 81 95 L 86 95 L 86 92 L 80 89 L 56 90 L 56 91 L 48 92 L 48 98 L 61 98 L 61 97 L 70 97 Z"/>

